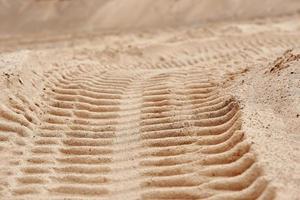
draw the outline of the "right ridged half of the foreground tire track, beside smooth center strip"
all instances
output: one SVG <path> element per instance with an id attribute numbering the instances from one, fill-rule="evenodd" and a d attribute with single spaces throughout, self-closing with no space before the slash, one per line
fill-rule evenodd
<path id="1" fill-rule="evenodd" d="M 143 199 L 272 199 L 240 130 L 237 103 L 201 72 L 190 74 L 171 81 L 183 85 L 179 97 L 157 86 L 164 75 L 144 93 Z"/>

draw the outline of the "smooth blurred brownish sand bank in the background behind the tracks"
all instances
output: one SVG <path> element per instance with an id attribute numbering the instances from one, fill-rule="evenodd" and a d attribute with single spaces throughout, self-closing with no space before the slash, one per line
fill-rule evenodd
<path id="1" fill-rule="evenodd" d="M 1 0 L 0 5 L 2 35 L 199 26 L 300 10 L 298 0 Z"/>

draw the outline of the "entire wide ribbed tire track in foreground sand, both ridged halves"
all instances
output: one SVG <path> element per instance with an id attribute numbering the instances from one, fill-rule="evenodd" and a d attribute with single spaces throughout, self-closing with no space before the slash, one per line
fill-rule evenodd
<path id="1" fill-rule="evenodd" d="M 273 199 L 238 104 L 205 70 L 46 76 L 42 107 L 24 97 L 1 107 L 1 145 L 23 138 L 4 196 Z"/>

